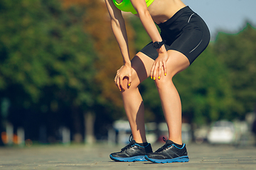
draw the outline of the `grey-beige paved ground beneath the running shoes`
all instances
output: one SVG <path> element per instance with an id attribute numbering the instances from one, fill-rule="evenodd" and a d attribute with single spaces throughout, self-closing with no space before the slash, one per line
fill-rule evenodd
<path id="1" fill-rule="evenodd" d="M 153 145 L 156 150 L 161 145 Z M 187 145 L 188 163 L 113 162 L 120 146 L 71 145 L 0 148 L 0 169 L 256 169 L 256 147 Z"/>

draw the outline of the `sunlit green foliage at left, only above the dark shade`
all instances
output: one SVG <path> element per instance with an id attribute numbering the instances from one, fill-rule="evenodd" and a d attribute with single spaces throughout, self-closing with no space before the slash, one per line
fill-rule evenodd
<path id="1" fill-rule="evenodd" d="M 47 97 L 46 87 L 56 95 L 73 89 L 74 104 L 91 106 L 95 55 L 82 30 L 82 8 L 64 11 L 58 1 L 43 0 L 4 0 L 0 6 L 1 93 L 28 107 Z"/>

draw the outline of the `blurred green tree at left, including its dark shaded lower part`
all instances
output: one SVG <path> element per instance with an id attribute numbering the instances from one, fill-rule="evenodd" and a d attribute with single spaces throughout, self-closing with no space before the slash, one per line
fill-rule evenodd
<path id="1" fill-rule="evenodd" d="M 0 1 L 0 96 L 11 101 L 9 120 L 28 136 L 41 125 L 55 136 L 70 119 L 82 134 L 81 110 L 95 107 L 96 55 L 82 31 L 84 11 L 64 11 L 59 1 Z"/>

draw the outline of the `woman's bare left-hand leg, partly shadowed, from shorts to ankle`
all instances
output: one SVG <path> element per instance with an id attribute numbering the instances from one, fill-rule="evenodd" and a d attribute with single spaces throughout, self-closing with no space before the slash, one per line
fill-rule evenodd
<path id="1" fill-rule="evenodd" d="M 138 143 L 146 142 L 144 125 L 144 103 L 139 93 L 138 85 L 149 77 L 154 60 L 139 52 L 132 59 L 132 84 L 129 89 L 122 91 L 124 109 L 132 130 L 132 136 Z M 124 79 L 124 81 L 127 81 Z M 124 82 L 127 84 L 127 82 Z"/>

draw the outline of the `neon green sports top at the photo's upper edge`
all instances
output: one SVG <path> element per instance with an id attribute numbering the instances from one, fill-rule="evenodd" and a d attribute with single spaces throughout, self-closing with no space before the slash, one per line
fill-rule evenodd
<path id="1" fill-rule="evenodd" d="M 146 1 L 146 6 L 149 7 L 154 0 L 145 0 Z M 134 9 L 132 6 L 132 3 L 130 0 L 123 0 L 121 3 L 118 3 L 116 0 L 113 0 L 114 5 L 119 8 L 119 10 L 124 11 L 124 12 L 131 12 L 133 14 L 136 14 L 137 11 Z"/>

